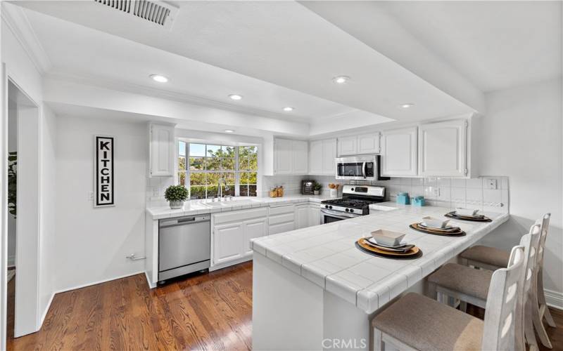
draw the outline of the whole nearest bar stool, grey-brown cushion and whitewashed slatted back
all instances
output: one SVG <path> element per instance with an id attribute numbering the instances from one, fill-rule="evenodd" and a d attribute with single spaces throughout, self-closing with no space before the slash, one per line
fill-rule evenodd
<path id="1" fill-rule="evenodd" d="M 373 350 L 514 350 L 524 247 L 514 246 L 510 267 L 491 277 L 485 320 L 417 293 L 407 293 L 372 319 Z"/>

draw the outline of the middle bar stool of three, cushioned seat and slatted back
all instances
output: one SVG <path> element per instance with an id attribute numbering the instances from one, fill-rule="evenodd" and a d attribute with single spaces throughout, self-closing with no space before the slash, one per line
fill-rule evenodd
<path id="1" fill-rule="evenodd" d="M 519 318 L 517 319 L 517 348 L 525 350 L 524 343 L 528 342 L 531 349 L 537 348 L 536 337 L 533 334 L 532 300 L 533 281 L 537 272 L 537 253 L 540 243 L 541 226 L 533 225 L 529 234 L 520 239 L 524 249 L 524 274 L 521 277 L 522 289 L 519 291 Z M 447 303 L 447 296 L 457 298 L 463 302 L 486 308 L 489 286 L 493 272 L 489 270 L 475 270 L 464 265 L 448 263 L 429 276 L 429 284 L 435 290 L 438 300 Z M 526 322 L 524 322 L 527 321 Z"/>

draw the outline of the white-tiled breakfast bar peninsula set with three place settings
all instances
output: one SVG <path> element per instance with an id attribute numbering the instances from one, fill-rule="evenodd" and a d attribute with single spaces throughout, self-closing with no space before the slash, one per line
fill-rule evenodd
<path id="1" fill-rule="evenodd" d="M 372 205 L 368 216 L 251 241 L 253 349 L 322 350 L 369 347 L 369 320 L 406 291 L 424 293 L 424 278 L 505 223 L 451 220 L 466 235 L 445 237 L 412 230 L 424 216 L 444 218 L 450 208 Z M 422 250 L 412 260 L 375 257 L 355 242 L 374 230 L 405 233 Z"/>

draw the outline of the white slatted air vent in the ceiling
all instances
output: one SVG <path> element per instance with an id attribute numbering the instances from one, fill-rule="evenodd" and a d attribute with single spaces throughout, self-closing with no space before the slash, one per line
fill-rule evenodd
<path id="1" fill-rule="evenodd" d="M 178 8 L 164 1 L 148 0 L 94 0 L 115 10 L 129 13 L 166 29 L 172 28 Z"/>

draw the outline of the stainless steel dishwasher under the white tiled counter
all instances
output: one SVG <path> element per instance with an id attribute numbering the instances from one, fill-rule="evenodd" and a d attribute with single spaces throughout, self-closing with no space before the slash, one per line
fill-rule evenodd
<path id="1" fill-rule="evenodd" d="M 209 268 L 210 218 L 210 215 L 199 215 L 159 220 L 159 282 Z"/>

